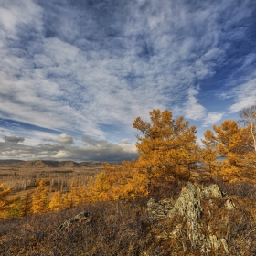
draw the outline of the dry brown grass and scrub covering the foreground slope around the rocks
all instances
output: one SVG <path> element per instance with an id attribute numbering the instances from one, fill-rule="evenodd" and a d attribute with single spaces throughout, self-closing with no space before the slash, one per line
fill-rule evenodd
<path id="1" fill-rule="evenodd" d="M 182 186 L 183 183 L 175 182 L 159 185 L 150 191 L 149 197 L 176 199 Z M 223 183 L 219 187 L 229 194 L 237 208 L 223 211 L 223 199 L 213 199 L 213 206 L 202 202 L 202 227 L 209 224 L 219 238 L 228 240 L 229 255 L 256 255 L 256 219 L 252 214 L 256 208 L 256 187 L 250 183 Z M 0 255 L 201 255 L 197 248 L 191 248 L 186 232 L 181 231 L 176 240 L 159 239 L 163 229 L 171 232 L 177 225 L 183 225 L 183 220 L 177 216 L 152 226 L 146 214 L 149 197 L 6 219 L 0 226 Z M 90 212 L 91 222 L 74 224 L 65 232 L 56 231 L 64 220 L 81 211 Z M 202 228 L 201 232 L 207 233 L 208 229 Z M 214 251 L 208 255 L 222 254 Z"/>

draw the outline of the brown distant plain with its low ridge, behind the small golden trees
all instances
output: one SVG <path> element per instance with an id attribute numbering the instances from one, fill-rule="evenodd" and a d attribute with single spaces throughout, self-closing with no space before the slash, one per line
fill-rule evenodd
<path id="1" fill-rule="evenodd" d="M 69 190 L 74 180 L 85 184 L 90 176 L 96 176 L 102 171 L 101 162 L 74 161 L 3 161 L 0 165 L 0 184 L 11 187 L 14 191 L 37 187 L 40 179 L 47 179 L 49 189 Z M 19 195 L 19 194 L 18 194 Z M 18 196 L 16 195 L 16 196 Z"/>

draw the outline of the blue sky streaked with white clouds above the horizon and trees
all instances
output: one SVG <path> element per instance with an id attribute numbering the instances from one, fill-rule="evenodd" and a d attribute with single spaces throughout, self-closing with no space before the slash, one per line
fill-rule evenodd
<path id="1" fill-rule="evenodd" d="M 153 109 L 256 101 L 255 0 L 0 0 L 0 159 L 120 162 Z"/>

